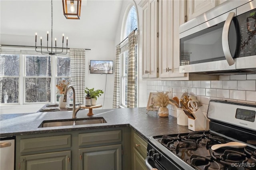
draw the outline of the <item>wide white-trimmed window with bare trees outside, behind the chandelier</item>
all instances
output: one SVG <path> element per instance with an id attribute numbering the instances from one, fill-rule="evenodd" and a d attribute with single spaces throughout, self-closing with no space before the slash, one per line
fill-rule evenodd
<path id="1" fill-rule="evenodd" d="M 55 103 L 59 98 L 56 84 L 70 78 L 70 57 L 25 50 L 1 51 L 0 104 Z"/>

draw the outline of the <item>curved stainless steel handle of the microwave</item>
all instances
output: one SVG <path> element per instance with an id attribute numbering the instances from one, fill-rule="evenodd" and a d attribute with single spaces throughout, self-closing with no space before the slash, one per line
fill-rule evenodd
<path id="1" fill-rule="evenodd" d="M 235 13 L 230 12 L 228 14 L 228 17 L 224 23 L 223 31 L 222 31 L 222 48 L 225 55 L 226 60 L 228 61 L 228 65 L 233 65 L 235 63 L 235 60 L 233 59 L 228 45 L 228 31 L 230 28 L 230 24 L 232 22 L 232 19 L 234 18 Z"/>

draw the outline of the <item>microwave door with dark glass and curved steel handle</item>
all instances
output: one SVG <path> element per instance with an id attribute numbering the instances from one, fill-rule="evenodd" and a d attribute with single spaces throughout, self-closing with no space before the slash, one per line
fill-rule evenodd
<path id="1" fill-rule="evenodd" d="M 235 16 L 231 10 L 180 33 L 180 73 L 236 69 L 240 44 Z"/>

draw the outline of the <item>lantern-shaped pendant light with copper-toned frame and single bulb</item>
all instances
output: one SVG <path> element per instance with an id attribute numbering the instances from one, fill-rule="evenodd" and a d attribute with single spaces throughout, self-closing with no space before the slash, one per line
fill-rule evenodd
<path id="1" fill-rule="evenodd" d="M 62 0 L 63 14 L 67 19 L 80 20 L 82 0 Z"/>

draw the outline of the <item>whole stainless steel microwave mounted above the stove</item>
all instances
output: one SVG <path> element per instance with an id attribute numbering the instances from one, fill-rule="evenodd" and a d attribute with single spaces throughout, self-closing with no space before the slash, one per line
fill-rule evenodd
<path id="1" fill-rule="evenodd" d="M 256 0 L 228 0 L 182 24 L 180 73 L 256 73 Z"/>

